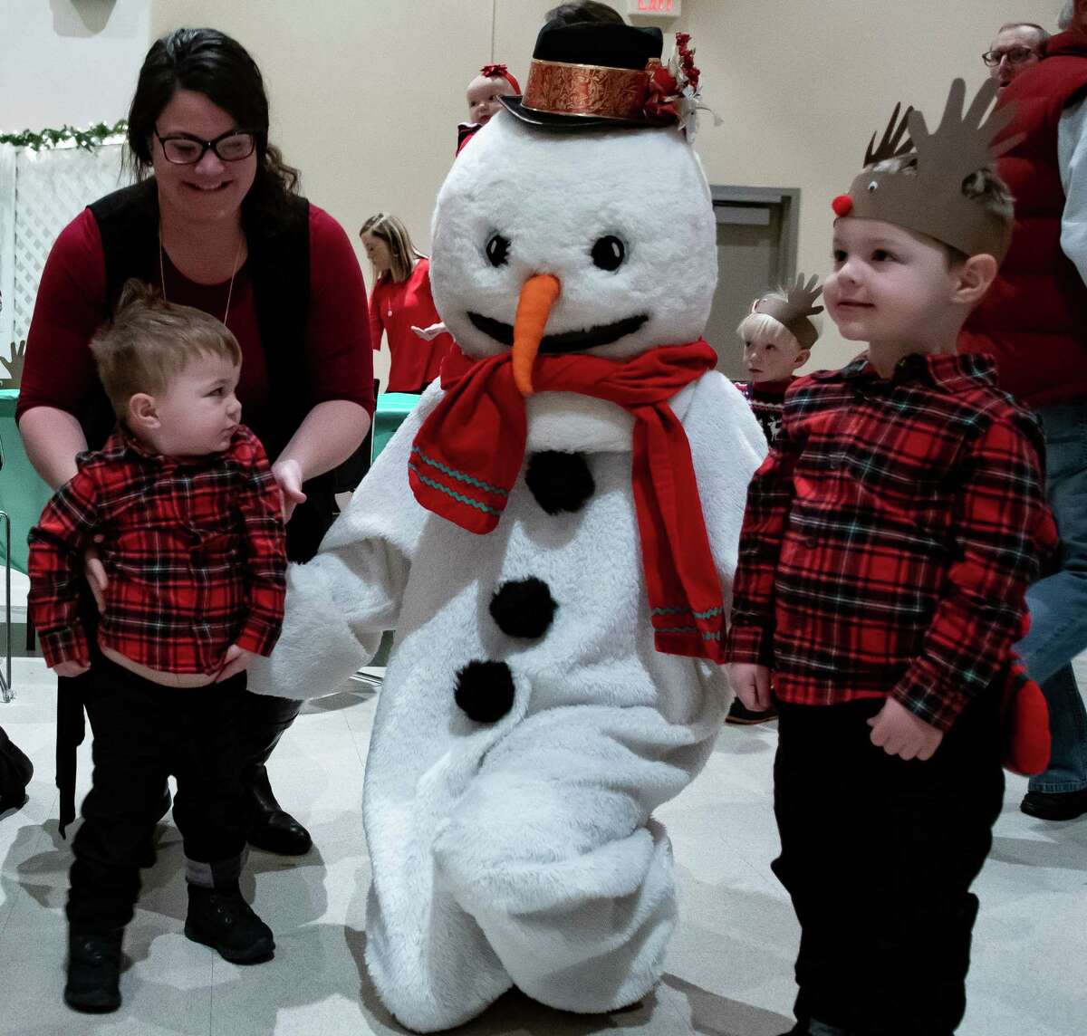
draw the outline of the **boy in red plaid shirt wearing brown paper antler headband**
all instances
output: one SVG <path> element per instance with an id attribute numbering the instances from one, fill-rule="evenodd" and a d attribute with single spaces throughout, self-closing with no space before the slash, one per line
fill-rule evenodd
<path id="1" fill-rule="evenodd" d="M 1054 540 L 1036 421 L 955 354 L 1011 229 L 994 95 L 963 114 L 955 80 L 935 133 L 896 109 L 835 199 L 824 297 L 867 351 L 790 388 L 748 495 L 728 658 L 752 709 L 774 672 L 794 1033 L 945 1036 L 965 1009 L 1001 691 Z"/>

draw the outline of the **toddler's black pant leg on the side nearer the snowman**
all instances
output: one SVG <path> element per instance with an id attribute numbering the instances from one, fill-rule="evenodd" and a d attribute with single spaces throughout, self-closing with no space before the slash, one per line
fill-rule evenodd
<path id="1" fill-rule="evenodd" d="M 248 714 L 245 674 L 196 691 L 178 710 L 174 821 L 182 832 L 192 884 L 236 883 L 252 817 L 242 782 L 242 729 Z"/>

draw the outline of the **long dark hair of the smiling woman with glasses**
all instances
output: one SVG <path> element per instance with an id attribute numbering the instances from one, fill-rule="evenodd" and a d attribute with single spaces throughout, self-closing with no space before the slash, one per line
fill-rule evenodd
<path id="1" fill-rule="evenodd" d="M 213 28 L 179 28 L 157 40 L 143 59 L 128 109 L 128 162 L 137 179 L 151 167 L 154 125 L 176 90 L 203 93 L 257 135 L 257 176 L 243 214 L 275 221 L 299 172 L 268 143 L 268 99 L 257 62 L 237 40 Z"/>

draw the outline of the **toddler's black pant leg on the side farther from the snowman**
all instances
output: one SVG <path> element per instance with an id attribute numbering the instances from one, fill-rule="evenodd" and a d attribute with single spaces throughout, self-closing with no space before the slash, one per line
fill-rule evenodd
<path id="1" fill-rule="evenodd" d="M 153 684 L 102 658 L 91 673 L 85 704 L 95 771 L 72 845 L 67 919 L 73 931 L 104 933 L 132 920 L 162 812 L 171 725 Z"/>

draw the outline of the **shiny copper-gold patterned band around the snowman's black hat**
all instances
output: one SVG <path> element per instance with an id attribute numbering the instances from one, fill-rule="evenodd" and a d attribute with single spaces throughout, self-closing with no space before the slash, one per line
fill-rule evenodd
<path id="1" fill-rule="evenodd" d="M 651 58 L 645 68 L 613 68 L 534 58 L 522 104 L 551 115 L 644 121 L 651 75 L 660 64 Z"/>

